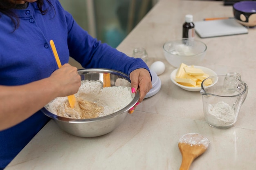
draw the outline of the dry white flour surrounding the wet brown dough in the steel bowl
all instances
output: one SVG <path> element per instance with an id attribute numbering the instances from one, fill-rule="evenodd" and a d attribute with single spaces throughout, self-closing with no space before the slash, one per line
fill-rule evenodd
<path id="1" fill-rule="evenodd" d="M 75 97 L 76 99 L 81 98 L 97 104 L 99 107 L 103 107 L 103 110 L 100 113 L 97 113 L 97 117 L 102 117 L 115 113 L 127 106 L 134 97 L 134 94 L 130 91 L 130 88 L 125 86 L 111 86 L 103 88 L 101 81 L 84 80 L 81 82 L 81 86 L 79 91 L 75 94 Z M 59 115 L 58 109 L 61 108 L 60 106 L 65 105 L 66 102 L 67 97 L 57 97 L 47 104 L 45 108 L 47 108 L 49 112 Z M 74 113 L 72 115 L 64 113 L 61 114 L 61 116 L 72 119 L 81 119 L 78 113 Z"/>

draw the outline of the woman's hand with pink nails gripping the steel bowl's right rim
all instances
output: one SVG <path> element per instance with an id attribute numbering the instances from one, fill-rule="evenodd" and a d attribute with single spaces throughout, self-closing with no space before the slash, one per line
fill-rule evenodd
<path id="1" fill-rule="evenodd" d="M 148 70 L 145 68 L 138 68 L 130 73 L 131 88 L 132 93 L 135 93 L 137 90 L 140 92 L 139 101 L 132 107 L 129 113 L 132 113 L 136 106 L 142 102 L 146 94 L 152 88 L 151 77 Z"/>

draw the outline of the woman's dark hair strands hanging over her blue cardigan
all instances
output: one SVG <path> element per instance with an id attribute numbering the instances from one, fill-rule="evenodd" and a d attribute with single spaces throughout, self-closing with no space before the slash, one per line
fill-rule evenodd
<path id="1" fill-rule="evenodd" d="M 44 1 L 47 1 L 50 5 L 50 9 L 54 9 L 52 3 L 49 0 L 37 0 L 36 4 L 39 9 L 39 11 L 42 13 L 42 15 L 45 15 L 48 11 L 49 8 L 43 9 L 43 3 Z M 14 9 L 16 7 L 16 0 L 0 0 L 0 18 L 1 18 L 1 13 L 9 16 L 11 18 L 11 21 L 14 24 L 14 31 L 18 28 L 19 26 L 19 18 L 18 16 L 11 11 L 11 9 Z"/>

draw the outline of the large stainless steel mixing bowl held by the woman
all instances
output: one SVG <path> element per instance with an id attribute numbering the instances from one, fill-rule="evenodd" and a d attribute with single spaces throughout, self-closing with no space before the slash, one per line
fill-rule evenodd
<path id="1" fill-rule="evenodd" d="M 128 75 L 119 71 L 110 69 L 81 69 L 78 71 L 81 75 L 81 80 L 103 80 L 104 73 L 110 73 L 111 86 L 128 86 L 130 87 L 130 79 Z M 120 81 L 121 80 L 121 81 Z M 97 137 L 105 135 L 115 128 L 117 128 L 128 115 L 128 111 L 132 108 L 139 100 L 139 91 L 134 95 L 132 102 L 125 108 L 112 113 L 107 116 L 97 117 L 93 119 L 69 119 L 60 117 L 53 113 L 50 113 L 46 107 L 42 108 L 42 112 L 48 117 L 52 118 L 59 128 L 67 133 L 70 133 L 79 137 Z"/>

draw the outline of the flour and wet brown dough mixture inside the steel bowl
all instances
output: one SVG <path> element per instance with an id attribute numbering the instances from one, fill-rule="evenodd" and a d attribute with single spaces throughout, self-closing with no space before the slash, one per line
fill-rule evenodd
<path id="1" fill-rule="evenodd" d="M 75 94 L 76 104 L 70 108 L 67 97 L 57 97 L 45 108 L 49 112 L 72 119 L 90 119 L 102 117 L 121 110 L 133 99 L 129 87 L 111 86 L 103 88 L 101 81 L 81 82 Z"/>

